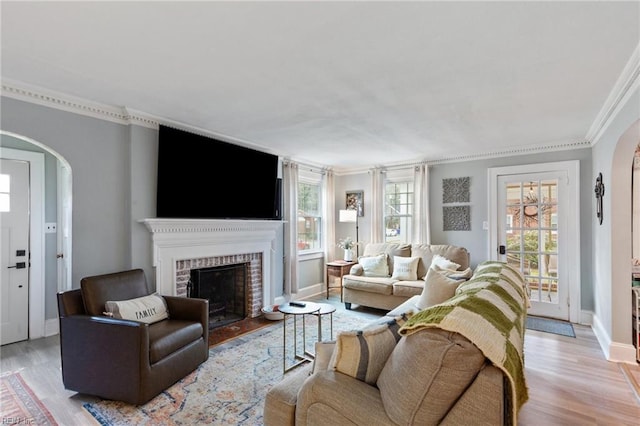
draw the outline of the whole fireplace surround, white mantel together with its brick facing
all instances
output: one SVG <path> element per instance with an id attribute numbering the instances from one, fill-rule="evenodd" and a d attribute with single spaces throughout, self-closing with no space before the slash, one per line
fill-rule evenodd
<path id="1" fill-rule="evenodd" d="M 280 221 L 144 219 L 152 234 L 156 290 L 187 295 L 191 269 L 248 262 L 247 315 L 260 315 L 275 297 L 277 229 Z"/>

